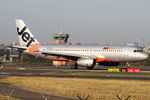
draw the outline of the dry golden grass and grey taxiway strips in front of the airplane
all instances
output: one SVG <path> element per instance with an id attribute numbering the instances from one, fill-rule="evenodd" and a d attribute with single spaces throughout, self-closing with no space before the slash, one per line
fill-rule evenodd
<path id="1" fill-rule="evenodd" d="M 74 99 L 77 95 L 82 98 L 90 95 L 89 100 L 150 99 L 149 66 L 142 66 L 140 73 L 107 72 L 107 68 L 7 66 L 0 69 L 0 83 Z"/>

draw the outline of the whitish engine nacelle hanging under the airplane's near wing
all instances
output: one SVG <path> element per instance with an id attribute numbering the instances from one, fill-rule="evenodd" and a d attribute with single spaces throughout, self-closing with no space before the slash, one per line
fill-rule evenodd
<path id="1" fill-rule="evenodd" d="M 80 58 L 77 60 L 77 65 L 91 67 L 96 65 L 96 59 L 92 58 Z"/>

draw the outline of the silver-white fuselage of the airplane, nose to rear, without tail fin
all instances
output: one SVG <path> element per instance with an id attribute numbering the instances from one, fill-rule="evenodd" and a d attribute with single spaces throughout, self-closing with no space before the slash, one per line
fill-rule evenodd
<path id="1" fill-rule="evenodd" d="M 39 52 L 36 56 L 46 59 L 63 59 L 59 55 L 79 56 L 79 57 L 92 57 L 94 59 L 102 58 L 106 61 L 113 62 L 128 62 L 128 61 L 142 61 L 148 58 L 148 55 L 143 52 L 140 47 L 130 46 L 91 46 L 91 45 L 49 45 L 40 46 Z M 31 52 L 26 51 L 29 54 Z M 42 52 L 57 55 L 44 55 Z"/>

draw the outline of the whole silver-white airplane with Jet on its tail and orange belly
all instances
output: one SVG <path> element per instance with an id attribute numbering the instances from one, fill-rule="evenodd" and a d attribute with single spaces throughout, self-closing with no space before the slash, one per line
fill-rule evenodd
<path id="1" fill-rule="evenodd" d="M 16 26 L 20 45 L 13 48 L 47 60 L 73 62 L 73 69 L 78 69 L 78 66 L 93 69 L 97 63 L 104 66 L 117 66 L 120 62 L 137 62 L 149 58 L 140 47 L 41 45 L 23 20 L 16 20 Z"/>

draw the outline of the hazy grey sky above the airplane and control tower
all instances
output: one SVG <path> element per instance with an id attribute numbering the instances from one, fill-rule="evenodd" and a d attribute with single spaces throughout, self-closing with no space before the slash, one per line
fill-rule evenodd
<path id="1" fill-rule="evenodd" d="M 69 41 L 150 45 L 150 0 L 1 0 L 0 43 L 18 42 L 15 19 L 42 43 L 63 30 Z"/>

